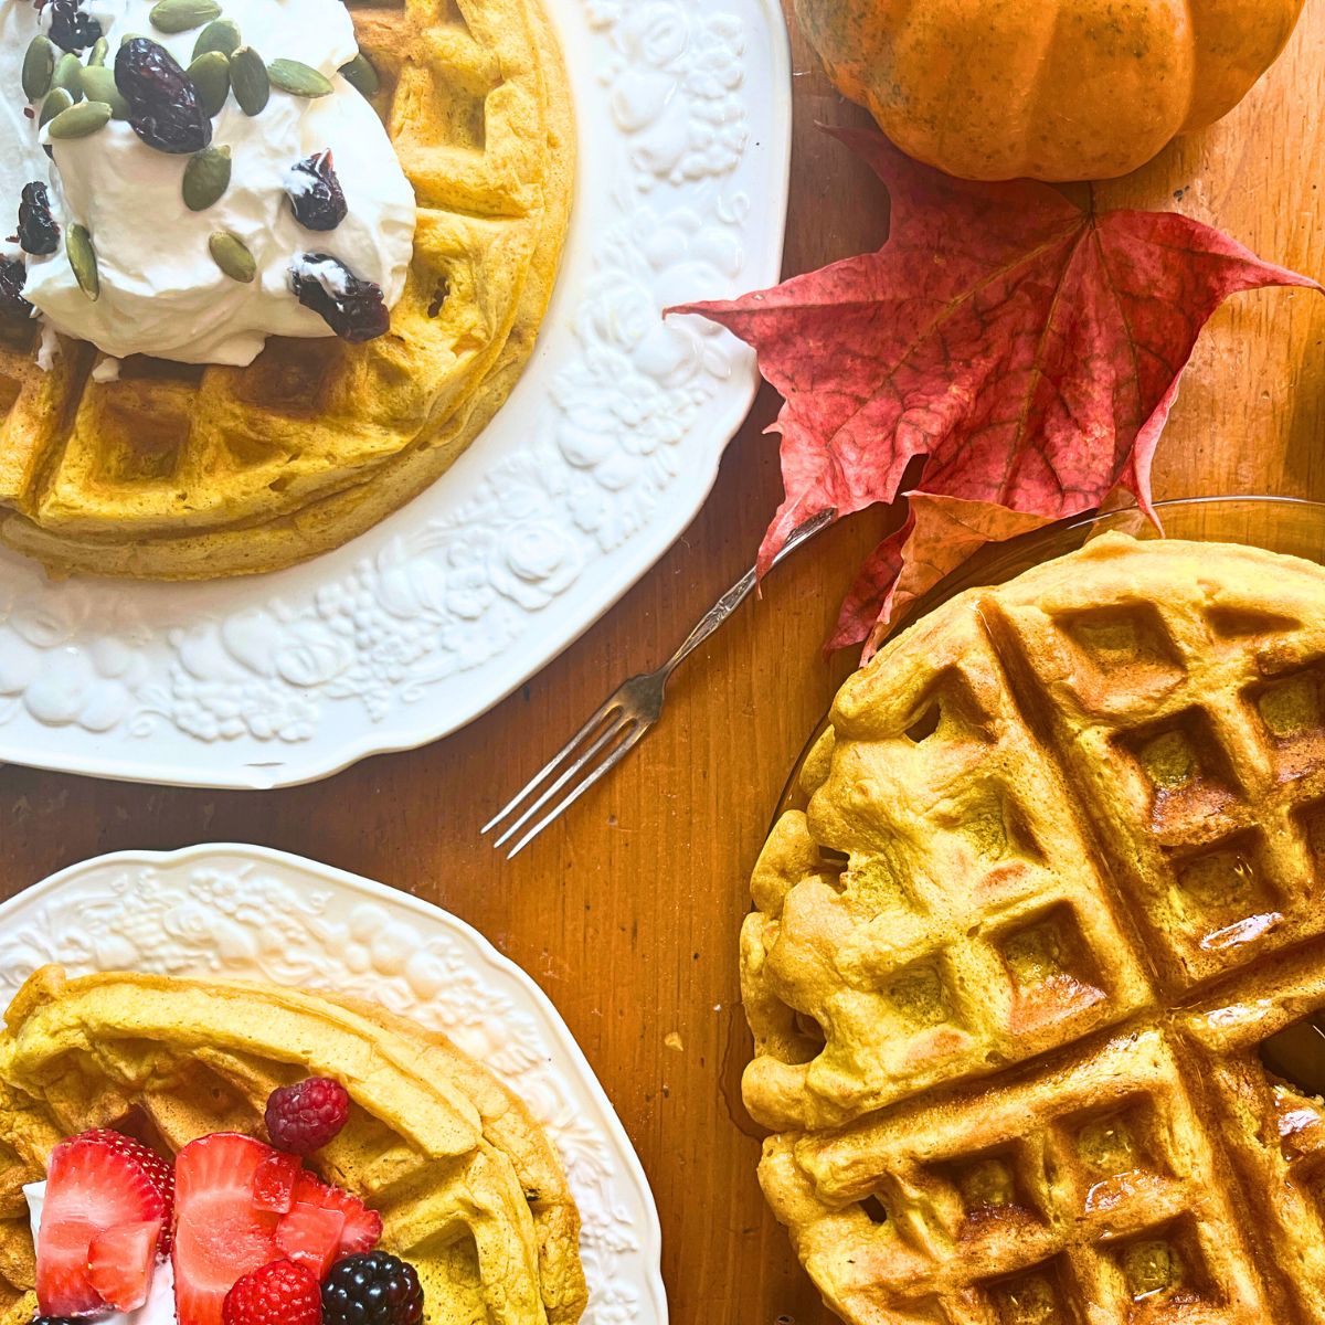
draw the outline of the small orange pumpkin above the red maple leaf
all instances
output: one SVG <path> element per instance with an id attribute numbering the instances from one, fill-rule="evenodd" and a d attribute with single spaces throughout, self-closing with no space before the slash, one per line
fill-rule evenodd
<path id="1" fill-rule="evenodd" d="M 1304 0 L 796 0 L 837 89 L 965 179 L 1106 179 L 1228 114 Z"/>

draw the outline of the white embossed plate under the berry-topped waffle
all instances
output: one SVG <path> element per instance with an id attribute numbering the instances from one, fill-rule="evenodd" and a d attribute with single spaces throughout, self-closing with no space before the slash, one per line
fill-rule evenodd
<path id="1" fill-rule="evenodd" d="M 74 975 L 338 990 L 445 1032 L 515 1090 L 560 1151 L 584 1222 L 582 1325 L 666 1325 L 657 1210 L 612 1105 L 542 990 L 454 916 L 258 847 L 125 852 L 0 905 L 0 1007 L 48 962 Z"/>

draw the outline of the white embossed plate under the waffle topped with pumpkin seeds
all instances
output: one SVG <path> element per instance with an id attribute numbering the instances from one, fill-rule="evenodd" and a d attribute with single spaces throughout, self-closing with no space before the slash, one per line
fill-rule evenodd
<path id="1" fill-rule="evenodd" d="M 538 351 L 428 493 L 280 575 L 53 583 L 0 550 L 0 761 L 276 787 L 484 713 L 694 518 L 750 352 L 669 303 L 775 282 L 791 144 L 778 0 L 549 0 L 576 211 Z"/>

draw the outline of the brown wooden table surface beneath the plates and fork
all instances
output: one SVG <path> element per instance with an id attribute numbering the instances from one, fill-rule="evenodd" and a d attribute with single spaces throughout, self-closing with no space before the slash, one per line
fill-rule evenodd
<path id="1" fill-rule="evenodd" d="M 792 23 L 794 26 L 794 23 Z M 881 188 L 815 122 L 860 123 L 803 42 L 787 272 L 877 246 Z M 1325 274 L 1325 0 L 1222 125 L 1101 189 L 1177 204 L 1263 257 Z M 123 848 L 254 841 L 439 902 L 551 996 L 598 1071 L 657 1195 L 680 1325 L 829 1320 L 757 1183 L 739 1104 L 749 1036 L 737 931 L 787 772 L 852 660 L 820 644 L 855 567 L 889 527 L 867 513 L 776 574 L 678 678 L 636 757 L 513 864 L 478 839 L 625 676 L 655 665 L 750 563 L 779 498 L 776 399 L 761 396 L 708 506 L 595 629 L 500 709 L 413 754 L 295 791 L 217 794 L 0 770 L 0 894 Z M 1158 496 L 1325 500 L 1325 298 L 1235 299 L 1198 350 L 1159 449 Z"/>

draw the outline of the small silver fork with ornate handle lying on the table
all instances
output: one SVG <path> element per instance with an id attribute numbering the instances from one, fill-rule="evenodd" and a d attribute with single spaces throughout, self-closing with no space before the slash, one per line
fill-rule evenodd
<path id="1" fill-rule="evenodd" d="M 832 522 L 831 510 L 807 519 L 787 539 L 774 559 L 776 566 L 802 543 L 808 542 Z M 501 824 L 502 835 L 493 843 L 500 851 L 533 819 L 542 819 L 511 847 L 507 860 L 514 860 L 550 823 L 559 819 L 580 796 L 606 778 L 645 737 L 649 727 L 662 716 L 662 700 L 672 673 L 754 592 L 758 576 L 746 571 L 713 604 L 685 643 L 656 672 L 632 676 L 603 706 L 571 737 L 563 749 L 514 800 L 494 819 L 484 824 L 486 836 Z M 509 822 L 507 822 L 509 820 Z"/>

